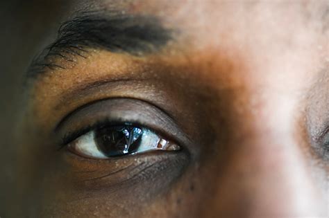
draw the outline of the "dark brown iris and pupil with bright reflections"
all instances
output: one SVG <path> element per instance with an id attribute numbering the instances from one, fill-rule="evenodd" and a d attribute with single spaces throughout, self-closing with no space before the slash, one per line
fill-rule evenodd
<path id="1" fill-rule="evenodd" d="M 106 156 L 121 156 L 135 152 L 143 131 L 138 127 L 103 127 L 95 132 L 95 142 Z"/>

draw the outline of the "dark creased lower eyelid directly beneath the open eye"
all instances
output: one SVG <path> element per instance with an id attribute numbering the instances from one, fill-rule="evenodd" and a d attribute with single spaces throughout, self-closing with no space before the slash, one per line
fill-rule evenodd
<path id="1" fill-rule="evenodd" d="M 124 186 L 134 188 L 141 183 L 174 180 L 189 163 L 184 152 L 176 154 L 142 154 L 140 157 L 128 156 L 125 159 L 94 160 L 85 159 L 81 165 L 81 157 L 68 158 L 74 173 L 74 187 L 84 190 L 119 190 Z M 80 162 L 80 163 L 79 163 Z M 164 178 L 165 176 L 165 178 Z M 151 179 L 152 178 L 152 179 Z M 141 188 L 150 187 L 143 185 Z"/>

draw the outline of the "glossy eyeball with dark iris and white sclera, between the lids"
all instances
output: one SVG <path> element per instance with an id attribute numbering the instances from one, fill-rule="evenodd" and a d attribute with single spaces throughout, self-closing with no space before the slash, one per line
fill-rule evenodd
<path id="1" fill-rule="evenodd" d="M 90 158 L 109 158 L 152 150 L 179 150 L 180 146 L 145 127 L 118 125 L 94 129 L 76 138 L 69 150 Z"/>

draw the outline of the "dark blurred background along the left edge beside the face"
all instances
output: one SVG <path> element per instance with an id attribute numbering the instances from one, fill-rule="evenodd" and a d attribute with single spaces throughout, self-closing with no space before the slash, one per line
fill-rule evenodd
<path id="1" fill-rule="evenodd" d="M 15 140 L 24 105 L 24 73 L 33 57 L 51 39 L 60 25 L 59 10 L 68 1 L 0 1 L 0 217 L 5 208 L 15 207 L 8 190 L 15 190 Z M 25 96 L 26 97 L 26 96 Z M 11 189 L 10 187 L 14 188 Z"/>

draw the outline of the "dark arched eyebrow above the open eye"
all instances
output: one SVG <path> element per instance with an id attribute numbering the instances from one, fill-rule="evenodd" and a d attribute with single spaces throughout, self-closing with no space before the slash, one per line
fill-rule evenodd
<path id="1" fill-rule="evenodd" d="M 60 26 L 56 41 L 35 57 L 27 77 L 35 78 L 47 69 L 65 69 L 58 60 L 74 62 L 76 55 L 85 57 L 87 48 L 137 56 L 153 53 L 172 39 L 172 33 L 153 16 L 108 10 L 79 12 Z"/>

